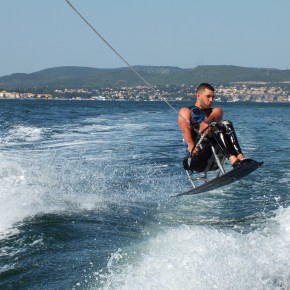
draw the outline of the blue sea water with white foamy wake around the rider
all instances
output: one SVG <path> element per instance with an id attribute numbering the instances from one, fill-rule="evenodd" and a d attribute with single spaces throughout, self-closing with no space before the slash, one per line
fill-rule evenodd
<path id="1" fill-rule="evenodd" d="M 170 198 L 164 102 L 1 100 L 0 289 L 290 289 L 290 104 L 219 105 L 263 167 Z"/>

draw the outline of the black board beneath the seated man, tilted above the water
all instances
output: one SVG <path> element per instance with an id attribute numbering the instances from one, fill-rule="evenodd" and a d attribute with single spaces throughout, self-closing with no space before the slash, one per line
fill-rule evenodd
<path id="1" fill-rule="evenodd" d="M 237 167 L 220 175 L 219 177 L 213 178 L 210 181 L 207 181 L 203 183 L 202 185 L 192 188 L 188 191 L 179 193 L 175 195 L 174 197 L 181 196 L 181 195 L 191 195 L 191 194 L 202 193 L 202 192 L 210 191 L 210 190 L 228 185 L 232 182 L 235 182 L 236 180 L 239 180 L 245 177 L 251 172 L 255 171 L 263 163 L 264 162 L 258 162 L 253 159 L 248 159 L 247 162 L 238 165 Z"/>

